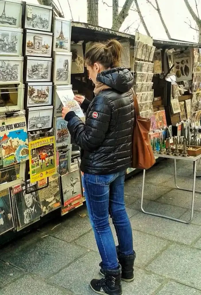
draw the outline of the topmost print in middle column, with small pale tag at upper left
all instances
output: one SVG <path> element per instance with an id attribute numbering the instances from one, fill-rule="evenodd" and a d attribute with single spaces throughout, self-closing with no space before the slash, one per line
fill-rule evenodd
<path id="1" fill-rule="evenodd" d="M 32 17 L 28 17 L 27 6 L 28 5 L 26 5 L 25 27 L 27 29 L 50 32 L 52 22 L 52 10 L 39 6 L 29 5 L 32 8 Z"/>

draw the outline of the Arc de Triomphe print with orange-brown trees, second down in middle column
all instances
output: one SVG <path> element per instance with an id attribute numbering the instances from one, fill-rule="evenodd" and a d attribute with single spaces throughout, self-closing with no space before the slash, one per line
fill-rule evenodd
<path id="1" fill-rule="evenodd" d="M 52 33 L 25 30 L 24 55 L 51 57 L 52 39 Z"/>

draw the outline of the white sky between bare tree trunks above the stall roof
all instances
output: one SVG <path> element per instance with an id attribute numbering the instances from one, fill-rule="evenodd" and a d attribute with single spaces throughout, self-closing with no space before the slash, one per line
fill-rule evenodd
<path id="1" fill-rule="evenodd" d="M 73 14 L 73 20 L 76 22 L 87 22 L 86 0 L 59 1 L 66 18 L 71 18 L 70 9 L 68 6 L 69 1 Z M 155 5 L 155 0 L 151 1 Z M 36 3 L 37 0 L 31 0 L 30 2 Z M 108 5 L 112 6 L 112 0 L 99 0 L 99 25 L 101 27 L 111 28 L 112 7 L 108 7 L 107 5 L 103 4 L 103 2 L 106 2 Z M 55 3 L 57 3 L 57 0 L 55 0 Z M 119 6 L 123 6 L 124 3 L 125 0 L 119 0 Z M 185 23 L 190 23 L 191 21 L 192 26 L 195 27 L 195 22 L 188 12 L 184 0 L 158 0 L 158 3 L 172 38 L 189 42 L 198 41 L 197 32 L 191 29 L 189 25 Z M 192 6 L 194 12 L 197 14 L 195 0 L 189 0 L 189 3 Z M 201 0 L 197 0 L 197 3 L 198 12 L 200 13 L 201 18 Z M 158 12 L 156 12 L 150 4 L 146 3 L 146 0 L 138 0 L 138 4 L 150 35 L 155 39 L 167 39 L 167 35 L 158 16 Z M 133 8 L 135 8 L 135 4 L 133 4 Z M 130 10 L 128 17 L 120 28 L 120 31 L 123 32 L 128 26 L 131 25 L 129 31 L 127 32 L 134 35 L 136 28 L 138 28 L 139 22 L 138 13 Z M 142 24 L 140 24 L 138 30 L 140 33 L 146 34 Z"/>

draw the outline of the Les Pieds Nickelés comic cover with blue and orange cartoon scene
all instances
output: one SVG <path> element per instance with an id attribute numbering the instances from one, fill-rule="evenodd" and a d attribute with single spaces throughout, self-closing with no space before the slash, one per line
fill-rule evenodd
<path id="1" fill-rule="evenodd" d="M 24 116 L 0 119 L 1 153 L 4 167 L 29 159 Z"/>

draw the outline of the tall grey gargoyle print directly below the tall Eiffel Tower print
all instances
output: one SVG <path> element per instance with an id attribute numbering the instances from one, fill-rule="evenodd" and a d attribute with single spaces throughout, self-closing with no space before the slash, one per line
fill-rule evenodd
<path id="1" fill-rule="evenodd" d="M 71 61 L 72 53 L 55 53 L 54 61 L 54 83 L 69 85 L 71 83 Z"/>

